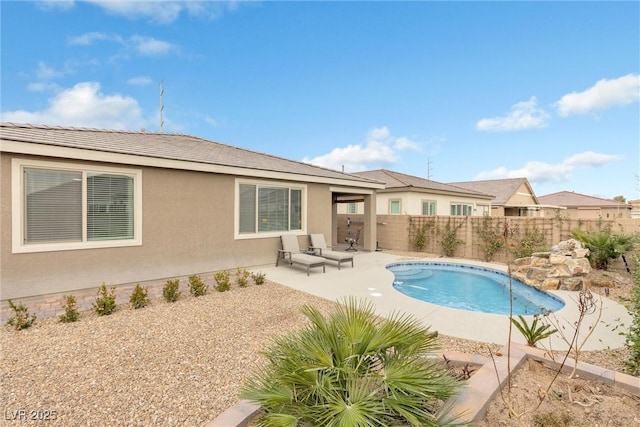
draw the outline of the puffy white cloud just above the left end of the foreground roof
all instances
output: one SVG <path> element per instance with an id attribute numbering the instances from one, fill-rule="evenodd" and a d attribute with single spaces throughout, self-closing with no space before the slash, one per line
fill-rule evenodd
<path id="1" fill-rule="evenodd" d="M 119 94 L 105 95 L 100 84 L 78 83 L 49 99 L 42 111 L 2 112 L 2 121 L 104 129 L 139 129 L 144 127 L 138 102 Z"/>

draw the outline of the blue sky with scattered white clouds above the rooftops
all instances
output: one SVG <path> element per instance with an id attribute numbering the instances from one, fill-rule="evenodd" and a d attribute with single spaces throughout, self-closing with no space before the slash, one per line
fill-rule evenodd
<path id="1" fill-rule="evenodd" d="M 2 121 L 640 198 L 640 3 L 0 3 Z"/>

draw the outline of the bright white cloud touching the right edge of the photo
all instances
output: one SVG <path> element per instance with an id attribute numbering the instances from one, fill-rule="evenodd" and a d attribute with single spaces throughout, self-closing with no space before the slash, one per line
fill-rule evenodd
<path id="1" fill-rule="evenodd" d="M 640 100 L 640 74 L 627 74 L 617 79 L 598 80 L 583 92 L 564 95 L 554 105 L 561 116 L 588 114 L 593 111 L 628 105 Z"/>

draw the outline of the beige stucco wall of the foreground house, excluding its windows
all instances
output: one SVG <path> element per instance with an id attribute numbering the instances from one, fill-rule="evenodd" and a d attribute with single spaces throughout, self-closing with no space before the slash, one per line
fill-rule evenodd
<path id="1" fill-rule="evenodd" d="M 142 246 L 14 254 L 11 155 L 2 153 L 0 300 L 275 263 L 278 237 L 234 238 L 233 176 L 141 169 Z M 307 184 L 306 212 L 307 230 L 331 235 L 327 185 Z"/>

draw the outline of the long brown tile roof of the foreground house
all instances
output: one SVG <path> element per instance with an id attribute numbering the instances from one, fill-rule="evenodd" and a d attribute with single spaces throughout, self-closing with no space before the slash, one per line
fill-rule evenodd
<path id="1" fill-rule="evenodd" d="M 184 134 L 0 123 L 0 140 L 334 178 L 361 183 L 372 182 L 353 174 Z"/>

